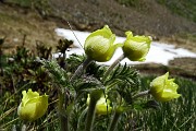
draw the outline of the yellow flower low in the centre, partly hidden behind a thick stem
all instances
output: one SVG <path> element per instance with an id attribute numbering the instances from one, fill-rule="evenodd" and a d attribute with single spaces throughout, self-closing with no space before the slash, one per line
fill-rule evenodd
<path id="1" fill-rule="evenodd" d="M 90 100 L 90 95 L 88 94 L 87 105 L 89 105 L 89 100 Z M 108 106 L 108 110 L 107 110 L 107 106 Z M 112 110 L 112 107 L 110 106 L 110 100 L 106 99 L 106 97 L 102 95 L 96 104 L 96 114 L 107 115 L 107 114 L 110 114 L 111 110 Z"/>

